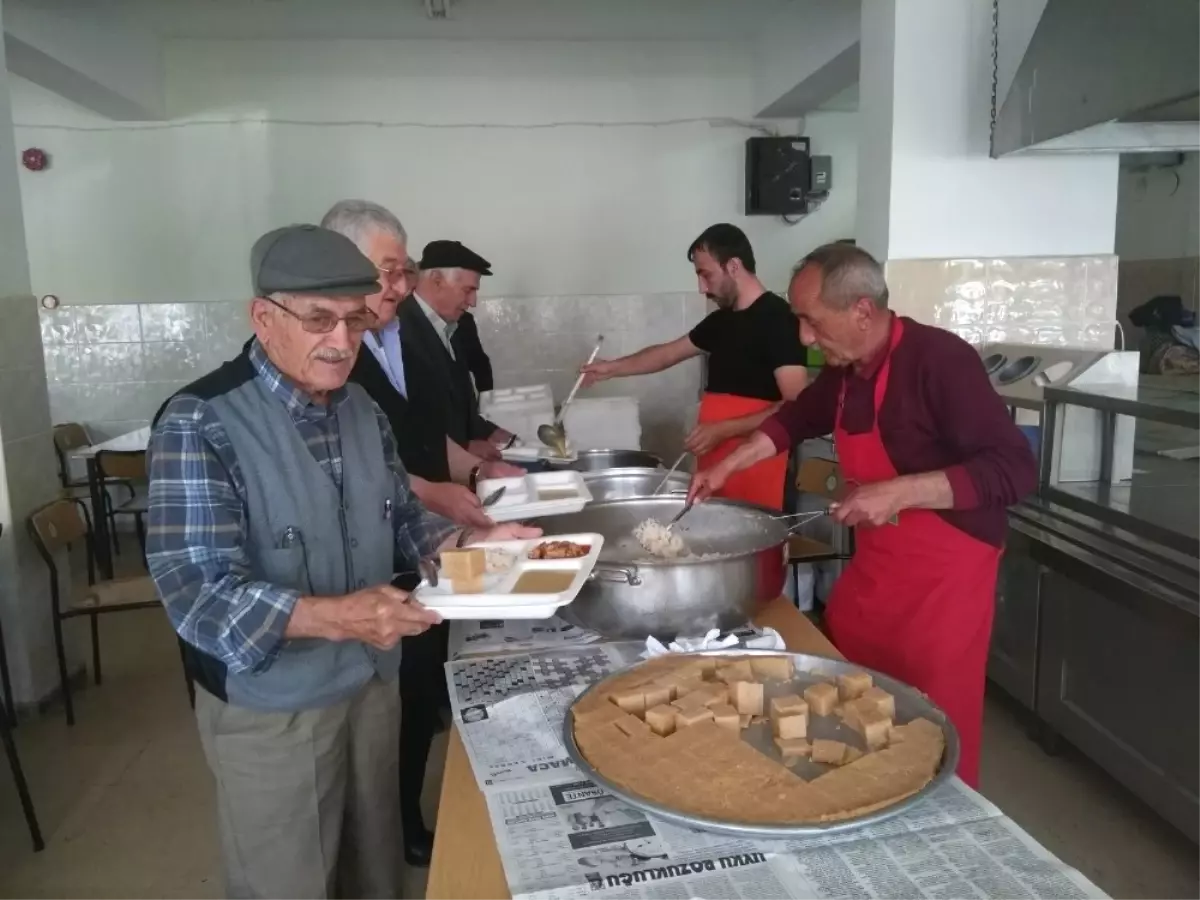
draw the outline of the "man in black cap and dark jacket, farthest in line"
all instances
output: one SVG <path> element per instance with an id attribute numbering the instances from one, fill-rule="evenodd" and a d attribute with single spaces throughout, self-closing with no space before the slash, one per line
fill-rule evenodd
<path id="1" fill-rule="evenodd" d="M 481 460 L 496 460 L 514 436 L 479 414 L 468 349 L 456 342 L 462 317 L 479 296 L 491 263 L 458 241 L 426 245 L 416 289 L 401 305 L 401 340 L 409 374 L 409 401 L 437 416 L 446 434 Z"/>

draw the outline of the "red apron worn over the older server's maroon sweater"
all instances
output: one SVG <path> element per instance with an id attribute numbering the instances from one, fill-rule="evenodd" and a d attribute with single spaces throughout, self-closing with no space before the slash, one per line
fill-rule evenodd
<path id="1" fill-rule="evenodd" d="M 863 434 L 841 427 L 834 442 L 847 482 L 887 481 L 898 473 L 880 437 L 896 319 L 875 383 L 875 425 Z M 959 732 L 959 776 L 979 784 L 983 691 L 996 604 L 1000 550 L 949 524 L 932 510 L 904 510 L 896 526 L 859 527 L 854 557 L 834 584 L 826 622 L 846 659 L 877 668 L 928 694 Z"/>

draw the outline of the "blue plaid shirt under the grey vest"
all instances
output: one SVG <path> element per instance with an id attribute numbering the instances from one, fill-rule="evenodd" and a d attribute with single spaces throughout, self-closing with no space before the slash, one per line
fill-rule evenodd
<path id="1" fill-rule="evenodd" d="M 348 394 L 313 403 L 266 358 L 250 349 L 257 377 L 283 403 L 322 469 L 341 485 L 342 455 L 336 409 Z M 415 569 L 455 532 L 416 499 L 400 462 L 396 439 L 379 407 L 384 458 L 395 473 L 391 522 L 396 557 Z M 268 667 L 300 592 L 254 578 L 246 556 L 246 492 L 224 426 L 208 402 L 179 394 L 163 409 L 150 438 L 146 563 L 167 614 L 190 644 L 232 672 Z"/>

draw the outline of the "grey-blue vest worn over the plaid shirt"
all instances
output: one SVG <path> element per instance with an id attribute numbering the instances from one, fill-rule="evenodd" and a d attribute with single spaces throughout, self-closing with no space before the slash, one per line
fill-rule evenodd
<path id="1" fill-rule="evenodd" d="M 317 596 L 391 581 L 394 478 L 373 403 L 356 384 L 346 390 L 336 413 L 341 491 L 262 379 L 211 401 L 246 486 L 245 550 L 254 581 Z M 392 680 L 398 673 L 400 644 L 379 652 L 358 641 L 293 640 L 260 671 L 228 672 L 226 692 L 235 706 L 298 712 L 347 700 L 376 674 Z"/>

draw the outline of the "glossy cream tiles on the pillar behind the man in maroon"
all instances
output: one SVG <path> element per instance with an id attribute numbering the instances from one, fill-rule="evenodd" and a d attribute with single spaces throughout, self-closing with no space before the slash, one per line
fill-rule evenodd
<path id="1" fill-rule="evenodd" d="M 1111 349 L 1117 258 L 893 259 L 890 306 L 973 344 Z"/>

